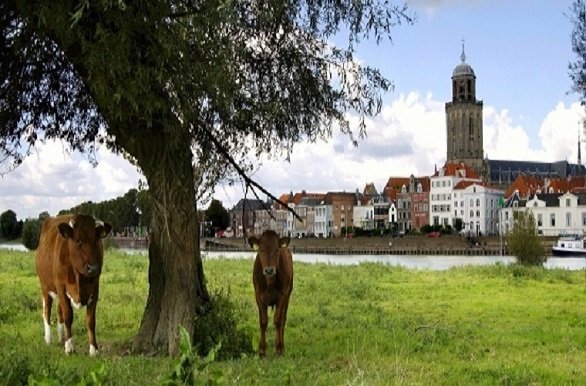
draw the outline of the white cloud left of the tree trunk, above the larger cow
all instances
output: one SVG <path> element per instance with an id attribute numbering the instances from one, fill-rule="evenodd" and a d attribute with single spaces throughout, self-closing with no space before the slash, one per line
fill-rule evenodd
<path id="1" fill-rule="evenodd" d="M 106 149 L 98 151 L 93 167 L 77 153 L 55 141 L 40 144 L 14 171 L 0 178 L 0 213 L 10 209 L 19 219 L 56 215 L 85 201 L 99 202 L 138 186 L 134 166 Z"/>

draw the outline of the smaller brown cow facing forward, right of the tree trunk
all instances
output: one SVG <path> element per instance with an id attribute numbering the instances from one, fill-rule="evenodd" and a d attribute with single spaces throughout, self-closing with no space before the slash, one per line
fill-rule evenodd
<path id="1" fill-rule="evenodd" d="M 282 354 L 285 348 L 287 308 L 293 290 L 293 257 L 287 248 L 289 237 L 279 238 L 276 232 L 268 230 L 260 238 L 250 237 L 248 243 L 257 251 L 252 281 L 260 319 L 258 354 L 264 356 L 266 353 L 265 333 L 268 324 L 268 306 L 276 306 L 274 313 L 274 324 L 277 330 L 275 351 L 277 354 Z"/>

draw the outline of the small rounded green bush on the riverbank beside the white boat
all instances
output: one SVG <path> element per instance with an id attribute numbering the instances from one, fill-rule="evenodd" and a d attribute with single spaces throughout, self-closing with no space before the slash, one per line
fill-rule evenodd
<path id="1" fill-rule="evenodd" d="M 523 265 L 543 265 L 546 260 L 543 244 L 537 233 L 533 212 L 516 212 L 513 228 L 507 234 L 509 253 Z"/>

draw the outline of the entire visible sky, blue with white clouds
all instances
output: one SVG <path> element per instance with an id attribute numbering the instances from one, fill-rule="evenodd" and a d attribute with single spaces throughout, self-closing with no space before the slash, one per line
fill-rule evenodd
<path id="1" fill-rule="evenodd" d="M 382 191 L 389 177 L 429 176 L 446 160 L 445 103 L 451 75 L 466 62 L 483 101 L 484 153 L 490 159 L 578 161 L 586 116 L 570 93 L 572 1 L 410 0 L 413 25 L 395 27 L 392 41 L 363 42 L 357 58 L 378 67 L 394 88 L 381 113 L 367 121 L 357 147 L 334 133 L 327 142 L 299 143 L 289 161 L 262 160 L 252 177 L 279 196 L 289 192 Z M 352 119 L 352 117 L 350 117 Z M 584 143 L 582 157 L 586 159 Z M 35 149 L 16 170 L 0 177 L 0 213 L 18 219 L 85 201 L 100 202 L 137 188 L 144 177 L 123 158 L 101 149 L 98 166 L 61 143 Z M 6 167 L 2 168 L 3 170 Z M 232 208 L 239 184 L 217 186 L 214 198 Z M 248 198 L 254 198 L 249 196 Z M 264 197 L 261 197 L 264 198 Z M 207 204 L 202 204 L 205 208 Z"/>

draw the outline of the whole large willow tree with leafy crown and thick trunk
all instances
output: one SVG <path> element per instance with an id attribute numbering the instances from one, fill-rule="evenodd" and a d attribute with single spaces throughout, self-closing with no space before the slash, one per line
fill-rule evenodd
<path id="1" fill-rule="evenodd" d="M 61 139 L 92 161 L 98 146 L 134 160 L 152 200 L 135 348 L 173 354 L 179 326 L 198 340 L 209 301 L 197 189 L 244 175 L 250 154 L 363 135 L 392 85 L 355 60 L 357 43 L 411 21 L 404 5 L 372 0 L 4 0 L 0 149 L 18 165 Z"/>

